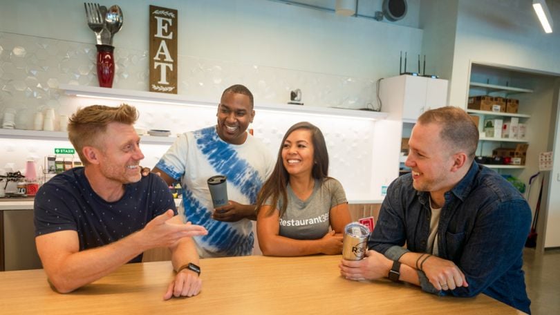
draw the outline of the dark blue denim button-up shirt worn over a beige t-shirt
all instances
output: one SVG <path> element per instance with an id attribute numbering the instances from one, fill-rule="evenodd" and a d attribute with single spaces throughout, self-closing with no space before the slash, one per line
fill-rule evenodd
<path id="1" fill-rule="evenodd" d="M 425 253 L 430 217 L 429 193 L 416 191 L 411 174 L 403 175 L 389 186 L 368 247 L 391 260 L 407 251 Z M 530 313 L 521 270 L 530 225 L 531 209 L 519 191 L 473 162 L 465 177 L 445 193 L 438 225 L 438 256 L 453 261 L 469 286 L 438 291 L 418 270 L 422 289 L 441 296 L 482 292 Z"/>

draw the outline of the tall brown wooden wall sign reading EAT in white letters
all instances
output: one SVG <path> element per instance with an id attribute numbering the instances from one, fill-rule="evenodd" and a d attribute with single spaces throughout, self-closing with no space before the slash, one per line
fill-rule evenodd
<path id="1" fill-rule="evenodd" d="M 177 10 L 150 6 L 150 91 L 177 94 Z"/>

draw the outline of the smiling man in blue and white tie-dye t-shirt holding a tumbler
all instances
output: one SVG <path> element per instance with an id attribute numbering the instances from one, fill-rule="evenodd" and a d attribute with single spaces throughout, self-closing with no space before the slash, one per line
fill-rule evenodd
<path id="1" fill-rule="evenodd" d="M 247 132 L 254 118 L 253 95 L 240 84 L 226 88 L 218 105 L 218 124 L 183 133 L 153 169 L 171 184 L 183 186 L 185 217 L 203 225 L 206 236 L 195 237 L 201 257 L 252 254 L 254 204 L 272 173 L 272 154 Z M 207 179 L 227 177 L 229 203 L 214 209 Z"/>

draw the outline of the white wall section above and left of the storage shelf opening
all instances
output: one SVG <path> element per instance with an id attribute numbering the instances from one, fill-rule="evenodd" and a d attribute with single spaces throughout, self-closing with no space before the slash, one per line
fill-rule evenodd
<path id="1" fill-rule="evenodd" d="M 560 21 L 560 1 L 548 3 Z M 471 61 L 560 74 L 559 30 L 543 32 L 531 1 L 459 0 L 456 30 L 450 104 L 466 104 Z"/>

